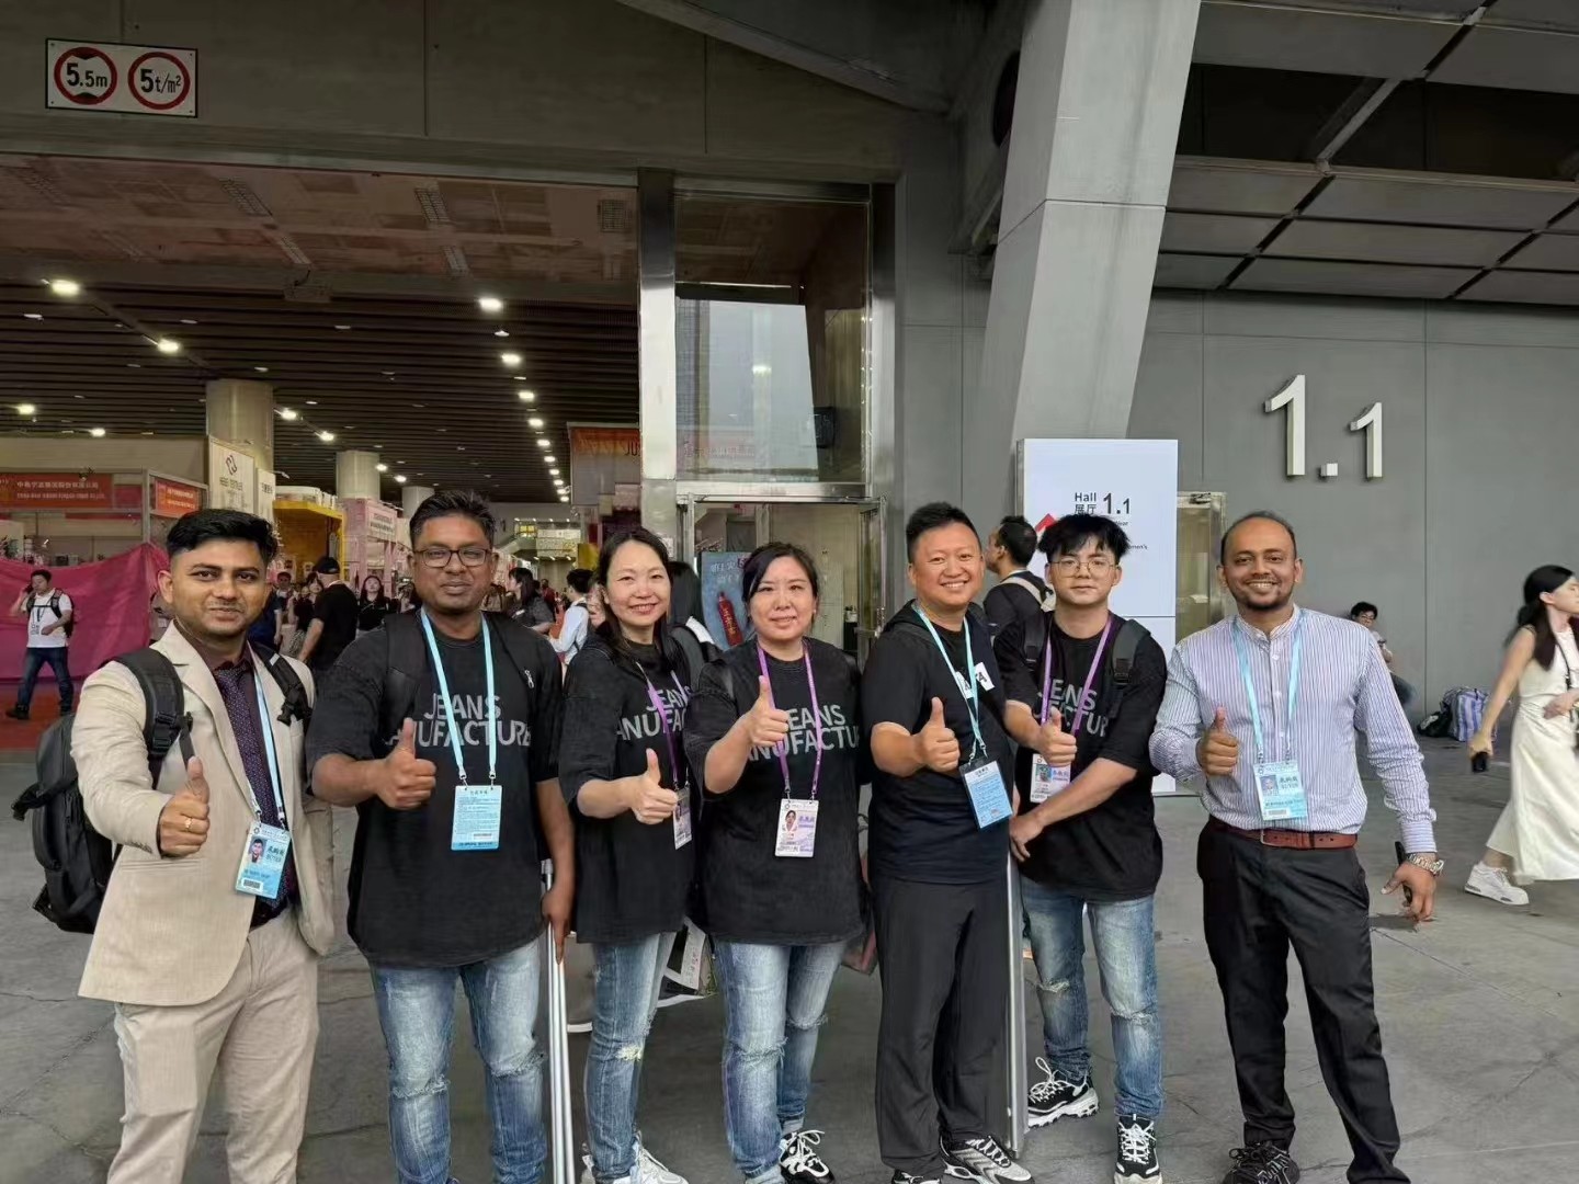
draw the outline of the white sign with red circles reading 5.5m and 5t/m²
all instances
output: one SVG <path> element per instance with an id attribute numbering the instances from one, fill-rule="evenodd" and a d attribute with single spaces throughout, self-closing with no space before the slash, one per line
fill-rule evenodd
<path id="1" fill-rule="evenodd" d="M 197 114 L 197 51 L 49 41 L 46 106 L 134 115 Z"/>

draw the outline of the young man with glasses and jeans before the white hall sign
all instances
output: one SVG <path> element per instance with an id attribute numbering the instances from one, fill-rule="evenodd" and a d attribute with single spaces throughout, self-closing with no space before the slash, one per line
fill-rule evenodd
<path id="1" fill-rule="evenodd" d="M 1108 609 L 1129 551 L 1123 527 L 1069 515 L 1042 535 L 1056 608 L 1030 635 L 998 635 L 1000 665 L 1036 654 L 1037 720 L 1075 739 L 1067 769 L 1018 755 L 1020 813 L 1009 824 L 1036 957 L 1045 1059 L 1031 1086 L 1033 1127 L 1097 1110 L 1091 1081 L 1085 987 L 1085 917 L 1091 919 L 1102 998 L 1113 1015 L 1118 1059 L 1115 1184 L 1151 1184 L 1162 1168 L 1162 1021 L 1157 1015 L 1153 897 L 1162 838 L 1153 818 L 1154 769 L 1146 751 L 1162 706 L 1167 661 L 1138 624 Z"/>

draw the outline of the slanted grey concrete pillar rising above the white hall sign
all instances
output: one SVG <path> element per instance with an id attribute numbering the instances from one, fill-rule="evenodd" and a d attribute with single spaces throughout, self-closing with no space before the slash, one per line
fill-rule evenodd
<path id="1" fill-rule="evenodd" d="M 1123 437 L 1200 0 L 1031 0 L 966 505 L 1012 505 L 1014 442 Z M 982 527 L 985 530 L 985 526 Z"/>

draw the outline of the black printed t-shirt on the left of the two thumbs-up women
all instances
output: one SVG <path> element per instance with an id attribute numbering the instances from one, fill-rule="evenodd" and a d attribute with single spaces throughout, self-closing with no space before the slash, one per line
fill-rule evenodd
<path id="1" fill-rule="evenodd" d="M 652 646 L 632 646 L 646 673 L 616 660 L 603 638 L 592 635 L 576 654 L 565 677 L 565 726 L 559 744 L 559 783 L 576 821 L 576 916 L 581 941 L 625 942 L 654 933 L 676 933 L 685 924 L 696 860 L 698 797 L 685 766 L 685 688 L 688 671 L 679 652 L 669 650 L 669 671 L 658 663 Z M 676 665 L 679 663 L 679 665 Z M 658 755 L 663 785 L 676 786 L 669 742 L 647 685 L 658 699 L 674 731 L 674 755 L 681 780 L 688 786 L 692 841 L 674 846 L 671 821 L 652 826 L 628 810 L 614 818 L 589 818 L 576 807 L 576 794 L 587 781 L 614 781 L 639 777 L 647 769 L 647 750 Z"/>

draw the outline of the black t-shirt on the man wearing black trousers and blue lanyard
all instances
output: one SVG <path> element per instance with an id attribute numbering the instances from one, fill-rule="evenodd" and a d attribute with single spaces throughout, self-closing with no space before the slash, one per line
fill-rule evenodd
<path id="1" fill-rule="evenodd" d="M 998 762 L 1004 789 L 1014 783 L 1014 742 L 1003 729 L 1007 698 L 1030 704 L 1033 691 L 1026 673 L 998 673 L 998 661 L 987 638 L 987 625 L 973 611 L 966 616 L 973 677 L 981 704 L 982 742 Z M 872 646 L 861 680 L 861 721 L 872 740 L 880 723 L 897 723 L 908 733 L 921 731 L 932 715 L 932 701 L 943 699 L 943 714 L 960 739 L 960 761 L 970 761 L 976 745 L 965 695 L 954 676 L 962 676 L 965 631 L 938 627 L 949 660 L 927 633 L 913 605 L 894 617 Z M 1007 695 L 1006 695 L 1007 691 Z M 976 826 L 976 811 L 965 780 L 922 769 L 913 777 L 892 777 L 876 770 L 872 778 L 872 829 L 867 862 L 873 876 L 892 876 L 924 884 L 984 884 L 1001 876 L 1009 854 L 1009 822 Z"/>

